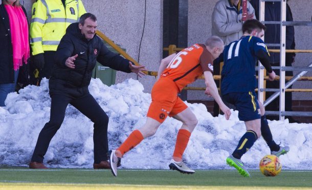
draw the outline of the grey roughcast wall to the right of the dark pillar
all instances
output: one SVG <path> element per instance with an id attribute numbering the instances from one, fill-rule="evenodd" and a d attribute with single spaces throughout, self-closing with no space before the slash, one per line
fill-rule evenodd
<path id="1" fill-rule="evenodd" d="M 188 13 L 188 44 L 203 43 L 211 35 L 211 14 L 218 0 L 189 0 Z M 298 3 L 300 2 L 300 3 Z M 292 9 L 294 21 L 311 21 L 311 0 L 288 2 Z M 200 19 L 199 19 L 200 18 Z M 295 27 L 296 49 L 312 50 L 312 27 Z M 312 54 L 297 54 L 293 66 L 306 66 L 312 62 Z M 295 74 L 298 72 L 295 72 Z M 312 76 L 308 72 L 305 76 Z M 205 86 L 203 81 L 198 81 L 191 86 Z M 310 81 L 296 82 L 293 88 L 311 88 Z M 293 92 L 293 100 L 312 100 L 310 92 Z M 208 100 L 203 91 L 189 91 L 189 100 Z"/>

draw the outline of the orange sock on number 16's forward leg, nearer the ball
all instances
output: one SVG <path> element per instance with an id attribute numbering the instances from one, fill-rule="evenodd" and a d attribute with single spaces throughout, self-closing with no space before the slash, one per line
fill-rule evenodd
<path id="1" fill-rule="evenodd" d="M 180 129 L 176 136 L 176 143 L 173 152 L 173 157 L 182 159 L 182 155 L 187 147 L 191 133 L 186 129 Z"/>

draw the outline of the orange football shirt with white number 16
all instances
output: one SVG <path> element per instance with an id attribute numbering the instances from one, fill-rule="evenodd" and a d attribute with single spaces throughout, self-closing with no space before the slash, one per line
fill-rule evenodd
<path id="1" fill-rule="evenodd" d="M 171 60 L 161 78 L 171 79 L 181 91 L 209 70 L 213 73 L 213 57 L 204 44 L 194 44 Z"/>

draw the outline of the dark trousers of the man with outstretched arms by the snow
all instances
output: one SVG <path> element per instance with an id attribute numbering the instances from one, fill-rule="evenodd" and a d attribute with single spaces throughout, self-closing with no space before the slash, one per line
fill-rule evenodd
<path id="1" fill-rule="evenodd" d="M 50 141 L 64 120 L 65 110 L 68 104 L 73 105 L 94 123 L 94 163 L 100 163 L 103 160 L 107 160 L 108 116 L 93 96 L 90 93 L 87 93 L 80 98 L 69 97 L 65 94 L 51 94 L 50 121 L 44 125 L 43 129 L 39 133 L 31 161 L 40 163 L 43 162 L 43 158 L 47 153 Z"/>

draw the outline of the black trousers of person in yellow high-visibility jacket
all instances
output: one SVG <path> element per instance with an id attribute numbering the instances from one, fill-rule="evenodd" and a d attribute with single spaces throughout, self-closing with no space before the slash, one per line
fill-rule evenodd
<path id="1" fill-rule="evenodd" d="M 46 77 L 47 79 L 50 79 L 51 77 L 52 69 L 54 66 L 55 51 L 46 51 L 43 53 L 43 56 L 44 66 L 41 70 L 39 70 L 38 78 L 35 78 L 36 64 L 33 62 L 33 60 L 30 64 L 30 82 L 33 85 L 40 85 L 40 81 L 44 77 Z"/>

